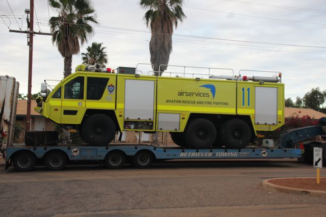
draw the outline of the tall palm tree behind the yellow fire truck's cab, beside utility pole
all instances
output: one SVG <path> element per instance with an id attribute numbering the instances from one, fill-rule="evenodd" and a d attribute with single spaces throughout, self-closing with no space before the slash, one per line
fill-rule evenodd
<path id="1" fill-rule="evenodd" d="M 59 13 L 51 17 L 49 25 L 52 43 L 56 44 L 64 58 L 64 77 L 71 74 L 72 55 L 79 53 L 79 42 L 84 44 L 93 35 L 90 23 L 98 23 L 89 0 L 49 0 Z"/>

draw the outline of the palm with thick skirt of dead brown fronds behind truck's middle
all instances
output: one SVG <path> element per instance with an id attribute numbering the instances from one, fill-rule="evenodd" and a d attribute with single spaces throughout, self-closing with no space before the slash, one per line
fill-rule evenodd
<path id="1" fill-rule="evenodd" d="M 147 27 L 150 27 L 152 36 L 149 42 L 149 51 L 153 71 L 158 75 L 159 65 L 169 63 L 172 51 L 173 27 L 178 26 L 178 21 L 182 21 L 186 16 L 182 11 L 183 0 L 141 0 L 140 5 L 148 9 L 145 13 Z M 166 70 L 162 66 L 160 71 Z M 159 74 L 160 75 L 160 74 Z"/>

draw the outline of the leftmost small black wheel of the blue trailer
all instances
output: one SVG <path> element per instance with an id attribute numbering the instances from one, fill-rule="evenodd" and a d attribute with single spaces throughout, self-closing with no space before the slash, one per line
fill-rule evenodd
<path id="1" fill-rule="evenodd" d="M 22 151 L 14 156 L 13 165 L 19 172 L 27 172 L 33 170 L 36 164 L 36 157 L 29 151 Z"/>

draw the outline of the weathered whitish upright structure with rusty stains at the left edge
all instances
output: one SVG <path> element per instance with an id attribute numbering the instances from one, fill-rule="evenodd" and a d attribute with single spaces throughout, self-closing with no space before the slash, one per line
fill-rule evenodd
<path id="1" fill-rule="evenodd" d="M 19 83 L 14 77 L 0 76 L 0 155 L 14 140 Z"/>

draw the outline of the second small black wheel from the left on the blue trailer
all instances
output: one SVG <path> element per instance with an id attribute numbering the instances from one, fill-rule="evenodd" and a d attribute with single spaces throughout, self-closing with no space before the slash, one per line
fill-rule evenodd
<path id="1" fill-rule="evenodd" d="M 44 158 L 44 164 L 49 170 L 63 170 L 66 163 L 66 155 L 61 151 L 50 151 Z"/>

